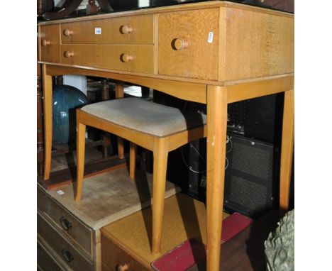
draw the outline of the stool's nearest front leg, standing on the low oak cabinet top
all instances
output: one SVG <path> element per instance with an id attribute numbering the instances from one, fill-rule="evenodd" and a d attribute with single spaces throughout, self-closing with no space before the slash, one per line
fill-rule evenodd
<path id="1" fill-rule="evenodd" d="M 164 212 L 164 197 L 167 170 L 167 140 L 155 139 L 153 148 L 153 236 L 152 253 L 160 253 L 162 234 L 162 216 Z"/>

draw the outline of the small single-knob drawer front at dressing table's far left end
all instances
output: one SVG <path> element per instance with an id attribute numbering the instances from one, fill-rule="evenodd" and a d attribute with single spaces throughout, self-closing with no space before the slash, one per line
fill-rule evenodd
<path id="1" fill-rule="evenodd" d="M 60 26 L 40 26 L 40 61 L 60 62 Z"/>

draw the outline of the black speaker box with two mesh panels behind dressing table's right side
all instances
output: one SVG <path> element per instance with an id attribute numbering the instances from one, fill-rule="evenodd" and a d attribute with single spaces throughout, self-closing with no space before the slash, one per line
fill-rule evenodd
<path id="1" fill-rule="evenodd" d="M 229 136 L 224 209 L 258 217 L 277 202 L 279 150 L 270 143 Z"/>

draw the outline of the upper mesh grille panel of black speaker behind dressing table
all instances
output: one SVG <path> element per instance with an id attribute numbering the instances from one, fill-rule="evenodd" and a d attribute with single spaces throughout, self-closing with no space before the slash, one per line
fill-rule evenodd
<path id="1" fill-rule="evenodd" d="M 267 150 L 233 143 L 232 169 L 268 180 L 270 153 Z"/>

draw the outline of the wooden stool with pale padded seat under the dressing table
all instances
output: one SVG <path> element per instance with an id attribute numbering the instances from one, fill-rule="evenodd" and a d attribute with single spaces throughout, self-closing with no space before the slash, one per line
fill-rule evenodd
<path id="1" fill-rule="evenodd" d="M 153 151 L 152 252 L 159 253 L 168 153 L 192 140 L 206 137 L 206 116 L 140 98 L 101 101 L 77 109 L 76 201 L 82 195 L 86 126 L 99 128 L 131 142 L 131 178 L 135 177 L 135 144 Z"/>

